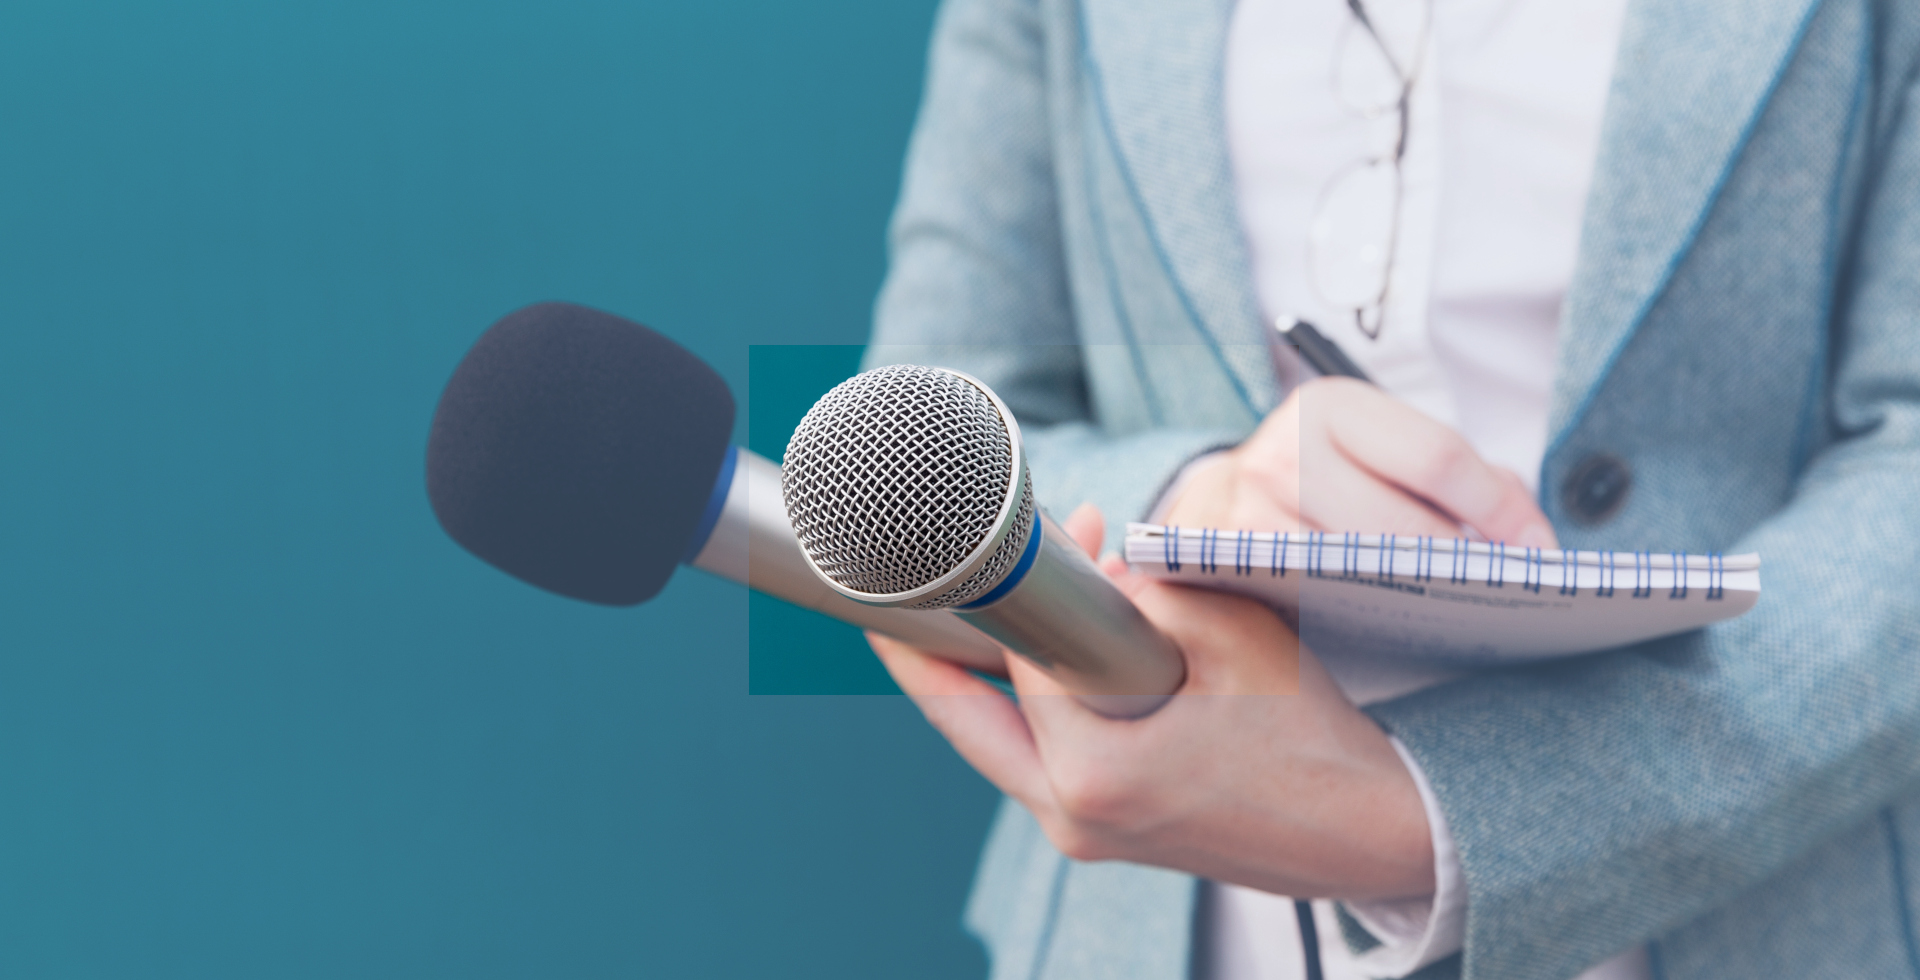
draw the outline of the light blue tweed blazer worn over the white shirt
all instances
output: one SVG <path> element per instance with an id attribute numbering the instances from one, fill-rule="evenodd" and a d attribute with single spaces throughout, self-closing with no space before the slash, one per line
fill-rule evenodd
<path id="1" fill-rule="evenodd" d="M 1334 2 L 1334 0 L 1325 0 Z M 1116 527 L 1281 392 L 1221 115 L 1231 0 L 948 0 L 874 361 L 966 369 Z M 1920 976 L 1920 2 L 1634 0 L 1540 503 L 1576 548 L 1759 551 L 1734 623 L 1377 705 L 1467 878 L 1434 976 L 1651 943 L 1705 978 Z M 1609 453 L 1626 503 L 1563 490 Z M 1112 538 L 1110 538 L 1112 540 Z M 995 978 L 1188 970 L 1194 880 L 1004 807 Z"/>

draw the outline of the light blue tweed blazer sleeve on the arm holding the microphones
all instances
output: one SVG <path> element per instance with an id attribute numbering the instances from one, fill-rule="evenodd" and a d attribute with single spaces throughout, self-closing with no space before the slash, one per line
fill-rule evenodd
<path id="1" fill-rule="evenodd" d="M 1920 106 L 1905 100 L 1832 325 L 1832 442 L 1738 546 L 1766 557 L 1761 603 L 1369 709 L 1453 826 L 1467 978 L 1572 976 L 1920 788 Z"/>

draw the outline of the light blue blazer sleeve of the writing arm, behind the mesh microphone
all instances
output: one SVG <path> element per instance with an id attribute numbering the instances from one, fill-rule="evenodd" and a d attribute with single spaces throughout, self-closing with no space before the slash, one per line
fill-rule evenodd
<path id="1" fill-rule="evenodd" d="M 947 0 L 889 231 L 866 367 L 927 363 L 987 382 L 1020 417 L 1041 502 L 1094 502 L 1108 542 L 1227 429 L 1117 434 L 1092 409 L 1064 252 L 1035 0 Z"/>

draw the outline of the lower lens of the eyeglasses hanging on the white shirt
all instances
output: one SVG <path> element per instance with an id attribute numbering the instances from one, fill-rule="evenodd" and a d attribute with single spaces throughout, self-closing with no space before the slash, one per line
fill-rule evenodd
<path id="1" fill-rule="evenodd" d="M 1386 161 L 1361 163 L 1327 186 L 1308 229 L 1308 261 L 1321 300 L 1361 309 L 1386 298 L 1398 209 L 1400 171 Z"/>

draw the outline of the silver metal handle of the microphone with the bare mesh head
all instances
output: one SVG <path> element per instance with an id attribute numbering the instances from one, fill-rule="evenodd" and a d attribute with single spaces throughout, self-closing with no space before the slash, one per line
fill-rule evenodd
<path id="1" fill-rule="evenodd" d="M 991 605 L 962 607 L 960 619 L 1102 715 L 1133 719 L 1165 703 L 1187 680 L 1181 649 L 1044 511 L 1035 538 L 1039 553 L 1025 576 Z"/>

